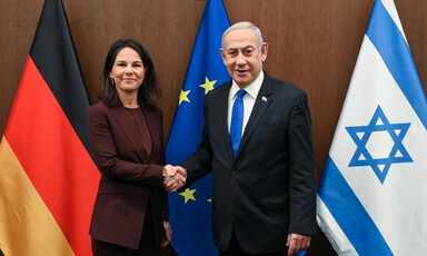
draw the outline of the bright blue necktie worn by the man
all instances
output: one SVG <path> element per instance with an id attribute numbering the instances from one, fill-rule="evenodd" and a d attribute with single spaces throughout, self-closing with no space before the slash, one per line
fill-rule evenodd
<path id="1" fill-rule="evenodd" d="M 244 96 L 246 90 L 240 89 L 237 92 L 235 105 L 232 106 L 231 126 L 230 126 L 230 139 L 232 152 L 236 156 L 237 149 L 241 140 L 241 131 L 244 129 Z"/>

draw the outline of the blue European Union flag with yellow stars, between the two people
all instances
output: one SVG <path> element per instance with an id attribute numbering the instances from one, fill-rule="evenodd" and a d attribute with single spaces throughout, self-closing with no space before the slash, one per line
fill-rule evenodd
<path id="1" fill-rule="evenodd" d="M 230 27 L 222 1 L 208 0 L 166 146 L 167 163 L 182 164 L 201 140 L 205 95 L 230 79 L 222 62 L 222 32 Z M 218 255 L 212 243 L 211 175 L 169 195 L 172 246 L 179 255 Z"/>

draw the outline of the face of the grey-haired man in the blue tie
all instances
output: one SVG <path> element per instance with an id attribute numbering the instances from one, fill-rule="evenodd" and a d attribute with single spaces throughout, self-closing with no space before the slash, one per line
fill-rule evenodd
<path id="1" fill-rule="evenodd" d="M 257 37 L 252 29 L 235 29 L 224 41 L 221 56 L 231 78 L 240 88 L 245 88 L 258 78 L 262 62 L 267 59 L 266 42 L 258 50 Z"/>

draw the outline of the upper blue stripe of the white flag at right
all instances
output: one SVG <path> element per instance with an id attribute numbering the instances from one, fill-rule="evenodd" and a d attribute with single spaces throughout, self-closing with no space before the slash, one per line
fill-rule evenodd
<path id="1" fill-rule="evenodd" d="M 426 97 L 409 47 L 381 1 L 374 6 L 366 35 L 427 129 Z"/>

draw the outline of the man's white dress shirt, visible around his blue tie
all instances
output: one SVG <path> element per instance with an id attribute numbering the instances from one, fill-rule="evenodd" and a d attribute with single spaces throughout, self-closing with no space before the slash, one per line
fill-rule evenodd
<path id="1" fill-rule="evenodd" d="M 244 128 L 241 131 L 241 136 L 245 134 L 246 125 L 248 124 L 250 114 L 252 112 L 255 100 L 257 99 L 259 89 L 261 89 L 261 85 L 264 81 L 264 71 L 259 72 L 259 76 L 252 83 L 247 86 L 245 88 L 246 95 L 244 96 Z M 231 115 L 232 115 L 232 106 L 235 104 L 237 92 L 240 90 L 240 87 L 237 86 L 236 81 L 232 80 L 232 85 L 230 88 L 230 93 L 228 95 L 228 134 L 230 134 L 230 126 L 231 126 Z"/>

